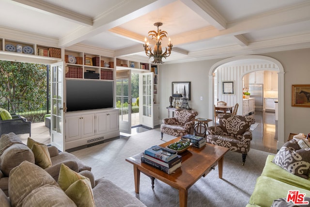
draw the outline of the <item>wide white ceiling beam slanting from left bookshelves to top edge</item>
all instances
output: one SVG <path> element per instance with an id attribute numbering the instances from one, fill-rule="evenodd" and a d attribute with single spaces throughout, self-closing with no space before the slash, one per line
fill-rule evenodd
<path id="1" fill-rule="evenodd" d="M 81 27 L 60 39 L 59 47 L 68 47 L 134 18 L 170 4 L 175 0 L 124 0 L 93 20 L 92 27 Z"/>

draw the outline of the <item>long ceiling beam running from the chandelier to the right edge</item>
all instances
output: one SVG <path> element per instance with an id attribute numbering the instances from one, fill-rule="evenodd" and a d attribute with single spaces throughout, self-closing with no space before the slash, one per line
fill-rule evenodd
<path id="1" fill-rule="evenodd" d="M 251 31 L 269 29 L 272 27 L 283 26 L 295 22 L 310 20 L 310 1 L 295 5 L 293 7 L 282 8 L 277 11 L 270 11 L 258 16 L 231 22 L 227 24 L 227 29 L 217 30 L 214 27 L 201 28 L 191 32 L 184 32 L 171 36 L 174 45 L 186 44 L 193 41 L 219 38 L 225 36 L 235 36 L 239 44 L 250 44 L 247 40 L 238 36 Z"/>

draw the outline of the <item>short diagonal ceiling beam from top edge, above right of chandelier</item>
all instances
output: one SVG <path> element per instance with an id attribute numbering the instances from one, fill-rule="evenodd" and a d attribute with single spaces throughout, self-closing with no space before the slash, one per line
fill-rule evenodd
<path id="1" fill-rule="evenodd" d="M 181 0 L 191 10 L 213 25 L 217 30 L 226 29 L 226 19 L 206 0 Z"/>

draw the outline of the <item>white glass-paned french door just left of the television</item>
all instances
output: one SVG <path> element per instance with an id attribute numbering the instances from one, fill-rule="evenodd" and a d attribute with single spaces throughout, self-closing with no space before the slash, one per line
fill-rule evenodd
<path id="1" fill-rule="evenodd" d="M 50 78 L 50 143 L 60 151 L 65 151 L 64 147 L 64 119 L 63 119 L 63 70 L 64 63 L 51 64 Z"/>

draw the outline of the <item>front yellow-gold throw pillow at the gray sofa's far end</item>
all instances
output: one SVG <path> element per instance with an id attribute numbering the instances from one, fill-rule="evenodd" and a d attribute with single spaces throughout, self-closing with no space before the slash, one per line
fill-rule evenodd
<path id="1" fill-rule="evenodd" d="M 52 165 L 47 145 L 33 144 L 31 150 L 34 155 L 34 162 L 36 165 L 43 169 Z"/>

